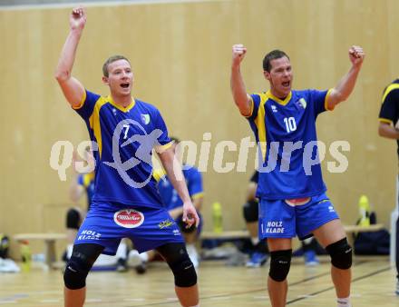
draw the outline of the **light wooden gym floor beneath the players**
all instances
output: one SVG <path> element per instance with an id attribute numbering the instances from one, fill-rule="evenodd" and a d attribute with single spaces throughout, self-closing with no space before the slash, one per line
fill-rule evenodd
<path id="1" fill-rule="evenodd" d="M 306 267 L 296 259 L 289 274 L 288 305 L 335 307 L 329 264 Z M 356 257 L 352 302 L 355 307 L 399 306 L 394 295 L 394 268 L 387 257 Z M 200 306 L 270 306 L 266 290 L 268 264 L 259 269 L 228 267 L 223 262 L 202 262 L 199 268 Z M 92 272 L 87 280 L 85 306 L 179 306 L 173 279 L 164 263 L 144 275 L 135 272 Z M 63 275 L 40 269 L 0 273 L 0 306 L 63 306 Z"/>

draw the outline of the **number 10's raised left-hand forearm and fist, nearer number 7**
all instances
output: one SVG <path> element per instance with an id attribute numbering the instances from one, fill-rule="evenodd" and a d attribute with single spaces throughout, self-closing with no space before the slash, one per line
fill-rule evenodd
<path id="1" fill-rule="evenodd" d="M 231 63 L 230 86 L 234 102 L 237 104 L 239 113 L 244 116 L 251 114 L 252 100 L 245 89 L 244 80 L 242 80 L 240 65 L 247 53 L 244 45 L 233 45 L 233 57 Z"/>

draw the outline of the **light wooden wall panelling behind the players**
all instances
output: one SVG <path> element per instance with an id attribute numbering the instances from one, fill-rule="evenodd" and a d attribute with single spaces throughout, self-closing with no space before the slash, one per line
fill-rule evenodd
<path id="1" fill-rule="evenodd" d="M 221 140 L 251 136 L 229 91 L 231 45 L 248 46 L 243 74 L 248 92 L 268 89 L 261 62 L 281 48 L 290 55 L 295 88 L 329 88 L 349 69 L 347 49 L 367 53 L 354 94 L 318 120 L 318 136 L 327 146 L 351 145 L 345 173 L 327 173 L 328 193 L 345 223 L 357 218 L 357 200 L 366 193 L 379 221 L 388 224 L 394 208 L 397 157 L 394 142 L 377 135 L 381 94 L 399 71 L 395 0 L 277 1 L 238 0 L 152 5 L 90 6 L 73 74 L 92 91 L 108 94 L 101 83 L 103 61 L 111 54 L 131 59 L 134 95 L 156 104 L 170 134 L 200 143 L 212 134 L 211 153 Z M 68 203 L 68 181 L 49 166 L 52 145 L 87 138 L 82 120 L 63 99 L 54 67 L 68 33 L 65 8 L 0 11 L 2 112 L 0 114 L 0 231 L 44 232 L 43 208 Z M 205 227 L 211 229 L 211 203 L 223 205 L 226 229 L 244 226 L 241 204 L 253 170 L 216 173 L 209 160 L 204 173 Z M 237 162 L 227 153 L 226 162 Z M 333 161 L 326 155 L 327 161 Z M 54 210 L 52 212 L 58 212 Z M 48 218 L 48 217 L 46 217 Z M 54 226 L 54 228 L 57 228 Z"/>

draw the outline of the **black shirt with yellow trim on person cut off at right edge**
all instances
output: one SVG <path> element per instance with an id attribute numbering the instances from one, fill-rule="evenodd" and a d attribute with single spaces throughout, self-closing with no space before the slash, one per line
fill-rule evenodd
<path id="1" fill-rule="evenodd" d="M 379 114 L 379 121 L 387 124 L 395 125 L 399 120 L 399 79 L 394 80 L 391 84 L 384 88 L 383 104 Z M 399 156 L 399 140 L 397 153 Z"/>

